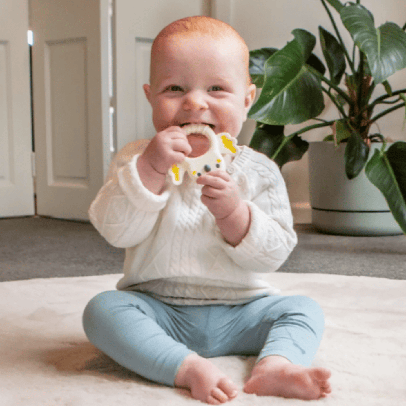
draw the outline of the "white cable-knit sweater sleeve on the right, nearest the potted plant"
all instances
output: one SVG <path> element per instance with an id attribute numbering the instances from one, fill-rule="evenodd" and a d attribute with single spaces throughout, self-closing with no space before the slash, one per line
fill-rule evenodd
<path id="1" fill-rule="evenodd" d="M 297 244 L 285 181 L 278 166 L 268 161 L 259 171 L 260 183 L 265 186 L 251 201 L 244 200 L 251 212 L 251 224 L 244 239 L 233 247 L 216 227 L 222 248 L 238 265 L 263 273 L 277 270 Z"/>

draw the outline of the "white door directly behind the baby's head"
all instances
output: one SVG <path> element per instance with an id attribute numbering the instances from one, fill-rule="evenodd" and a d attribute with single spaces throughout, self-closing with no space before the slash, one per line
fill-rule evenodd
<path id="1" fill-rule="evenodd" d="M 169 23 L 210 15 L 210 0 L 115 0 L 115 106 L 117 150 L 130 141 L 152 138 L 151 106 L 143 91 L 149 83 L 151 44 Z"/>

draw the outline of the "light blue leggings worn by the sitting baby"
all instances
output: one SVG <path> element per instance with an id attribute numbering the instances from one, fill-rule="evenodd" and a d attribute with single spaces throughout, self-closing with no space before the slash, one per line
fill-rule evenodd
<path id="1" fill-rule="evenodd" d="M 266 296 L 247 304 L 166 304 L 140 292 L 107 291 L 83 313 L 97 348 L 138 375 L 170 386 L 191 353 L 281 355 L 310 366 L 324 330 L 320 306 L 306 296 Z"/>

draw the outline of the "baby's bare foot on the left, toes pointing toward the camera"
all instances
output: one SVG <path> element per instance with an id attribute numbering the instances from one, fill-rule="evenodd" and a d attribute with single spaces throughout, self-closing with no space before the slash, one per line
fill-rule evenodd
<path id="1" fill-rule="evenodd" d="M 237 387 L 208 359 L 188 355 L 175 378 L 175 386 L 190 389 L 194 399 L 213 405 L 237 396 Z"/>

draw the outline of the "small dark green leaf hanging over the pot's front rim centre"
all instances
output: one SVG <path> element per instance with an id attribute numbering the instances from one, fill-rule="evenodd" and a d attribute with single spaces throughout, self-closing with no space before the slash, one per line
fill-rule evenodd
<path id="1" fill-rule="evenodd" d="M 344 162 L 348 179 L 353 179 L 362 171 L 368 160 L 369 148 L 364 143 L 361 135 L 354 131 L 348 138 L 344 151 Z"/>

